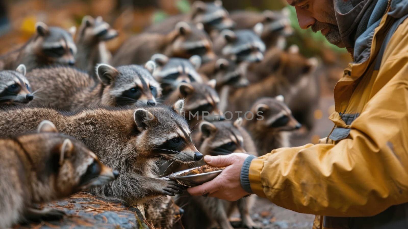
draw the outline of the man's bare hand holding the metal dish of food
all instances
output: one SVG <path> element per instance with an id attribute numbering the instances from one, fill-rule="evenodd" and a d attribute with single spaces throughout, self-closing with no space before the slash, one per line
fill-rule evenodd
<path id="1" fill-rule="evenodd" d="M 193 196 L 212 196 L 223 200 L 235 201 L 249 195 L 241 187 L 240 175 L 245 153 L 231 153 L 226 156 L 205 156 L 204 161 L 213 167 L 226 167 L 216 178 L 200 186 L 188 188 Z"/>

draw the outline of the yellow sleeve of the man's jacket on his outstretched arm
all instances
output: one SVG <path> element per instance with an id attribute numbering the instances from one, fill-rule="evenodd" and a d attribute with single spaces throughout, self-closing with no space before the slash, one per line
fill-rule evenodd
<path id="1" fill-rule="evenodd" d="M 255 158 L 252 191 L 281 207 L 325 216 L 373 216 L 408 202 L 407 54 L 382 66 L 378 79 L 390 79 L 351 124 L 348 138 Z"/>

